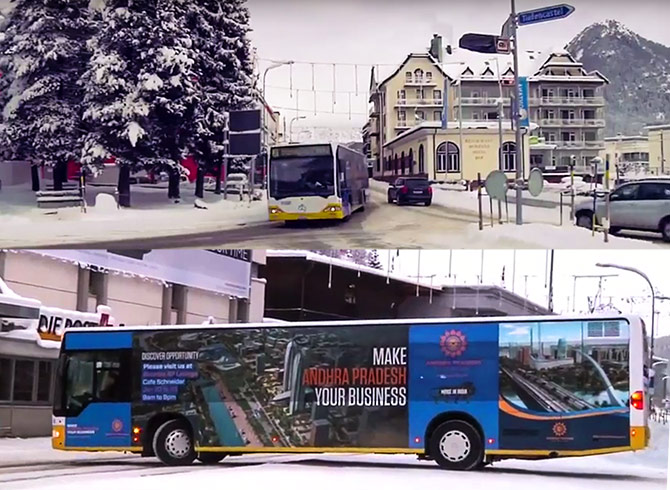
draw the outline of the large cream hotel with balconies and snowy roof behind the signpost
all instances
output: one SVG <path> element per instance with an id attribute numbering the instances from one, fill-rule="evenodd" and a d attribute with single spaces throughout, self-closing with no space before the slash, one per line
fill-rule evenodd
<path id="1" fill-rule="evenodd" d="M 591 161 L 605 147 L 603 90 L 608 80 L 599 72 L 587 72 L 567 52 L 522 56 L 520 71 L 528 78 L 529 116 L 534 124 L 530 136 L 539 145 L 531 144 L 524 175 L 533 167 L 547 173 L 568 172 L 571 164 L 578 173 L 590 172 Z M 364 128 L 375 177 L 386 177 L 389 172 L 385 159 L 395 157 L 389 142 L 419 125 L 441 121 L 445 98 L 447 119 L 468 123 L 468 134 L 479 132 L 473 123 L 496 122 L 499 114 L 510 128 L 514 71 L 505 57 L 469 53 L 464 61 L 445 60 L 441 39 L 435 36 L 427 53 L 410 54 L 379 83 L 378 75 L 373 69 L 369 120 Z M 458 149 L 465 153 L 464 148 Z M 499 146 L 493 152 L 494 158 L 497 155 L 494 166 L 501 170 L 509 163 L 504 153 Z M 405 168 L 418 173 L 418 163 L 410 160 Z M 470 161 L 475 168 L 466 167 L 463 172 L 480 172 L 477 163 Z M 390 170 L 398 174 L 401 168 L 391 166 Z"/>

